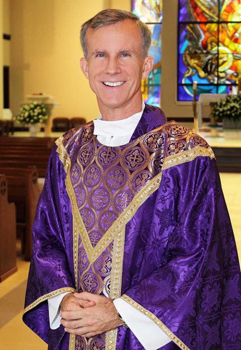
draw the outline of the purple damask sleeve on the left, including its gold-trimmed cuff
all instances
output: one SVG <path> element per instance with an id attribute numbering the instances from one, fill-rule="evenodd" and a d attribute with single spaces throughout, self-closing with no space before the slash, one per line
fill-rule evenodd
<path id="1" fill-rule="evenodd" d="M 65 188 L 65 172 L 51 153 L 44 189 L 33 225 L 33 257 L 25 300 L 24 322 L 49 348 L 56 348 L 64 329 L 50 330 L 47 299 L 74 291 L 72 215 Z"/>

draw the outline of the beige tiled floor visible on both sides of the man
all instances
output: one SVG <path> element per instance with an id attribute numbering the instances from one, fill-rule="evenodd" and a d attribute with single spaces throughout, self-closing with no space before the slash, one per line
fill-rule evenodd
<path id="1" fill-rule="evenodd" d="M 241 174 L 222 173 L 221 182 L 241 261 Z M 18 272 L 0 284 L 1 350 L 46 350 L 47 344 L 22 322 L 29 263 L 18 258 Z"/>

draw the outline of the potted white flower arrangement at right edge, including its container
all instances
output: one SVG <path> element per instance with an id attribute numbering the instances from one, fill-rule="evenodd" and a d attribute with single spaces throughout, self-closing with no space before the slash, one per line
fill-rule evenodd
<path id="1" fill-rule="evenodd" d="M 225 100 L 211 103 L 211 116 L 222 120 L 223 128 L 241 128 L 241 95 L 227 95 Z"/>

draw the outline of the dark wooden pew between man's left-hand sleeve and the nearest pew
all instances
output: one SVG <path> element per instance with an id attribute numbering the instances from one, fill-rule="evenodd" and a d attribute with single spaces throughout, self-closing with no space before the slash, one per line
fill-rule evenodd
<path id="1" fill-rule="evenodd" d="M 9 201 L 15 202 L 17 214 L 17 234 L 22 238 L 22 251 L 25 259 L 32 256 L 32 225 L 40 190 L 38 171 L 35 166 L 4 167 L 0 163 L 0 172 L 5 173 L 9 183 Z"/>

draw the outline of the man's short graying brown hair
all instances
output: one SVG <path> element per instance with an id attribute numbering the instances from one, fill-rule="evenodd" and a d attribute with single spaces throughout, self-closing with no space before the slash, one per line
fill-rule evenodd
<path id="1" fill-rule="evenodd" d="M 147 57 L 152 41 L 152 34 L 148 26 L 131 12 L 124 10 L 107 9 L 97 13 L 90 20 L 86 21 L 81 27 L 80 42 L 85 59 L 88 59 L 86 38 L 87 30 L 89 28 L 97 29 L 103 26 L 108 26 L 110 24 L 122 22 L 124 20 L 132 20 L 136 22 L 142 36 L 142 58 Z"/>

